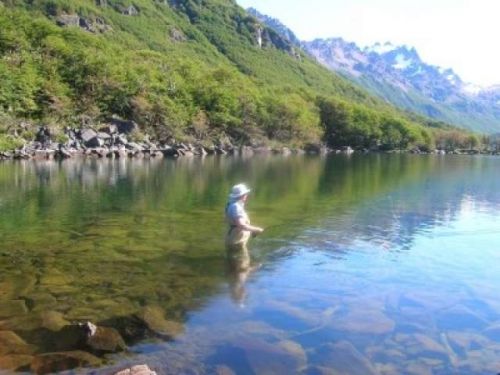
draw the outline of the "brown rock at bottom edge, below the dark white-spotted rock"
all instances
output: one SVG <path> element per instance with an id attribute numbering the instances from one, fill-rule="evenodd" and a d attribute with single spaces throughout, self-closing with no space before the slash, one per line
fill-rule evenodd
<path id="1" fill-rule="evenodd" d="M 35 374 L 48 374 L 72 370 L 77 367 L 99 366 L 101 360 L 90 353 L 80 350 L 70 352 L 46 353 L 37 355 L 31 361 L 31 371 Z"/>

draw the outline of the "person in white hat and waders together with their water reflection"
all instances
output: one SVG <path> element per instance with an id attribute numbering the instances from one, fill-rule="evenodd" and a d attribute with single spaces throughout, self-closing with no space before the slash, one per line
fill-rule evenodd
<path id="1" fill-rule="evenodd" d="M 250 225 L 245 211 L 245 202 L 250 189 L 244 184 L 233 186 L 226 205 L 226 220 L 229 229 L 226 234 L 226 255 L 229 268 L 231 297 L 244 306 L 246 297 L 245 282 L 255 267 L 251 266 L 247 242 L 252 235 L 262 233 L 260 227 Z"/>

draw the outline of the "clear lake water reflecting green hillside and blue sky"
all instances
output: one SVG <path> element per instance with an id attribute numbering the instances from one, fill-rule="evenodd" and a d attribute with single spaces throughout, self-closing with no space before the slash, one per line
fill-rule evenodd
<path id="1" fill-rule="evenodd" d="M 410 155 L 0 164 L 0 366 L 74 350 L 58 332 L 89 320 L 128 346 L 94 352 L 97 373 L 497 374 L 499 172 Z M 240 181 L 268 228 L 249 274 L 224 261 Z"/>

